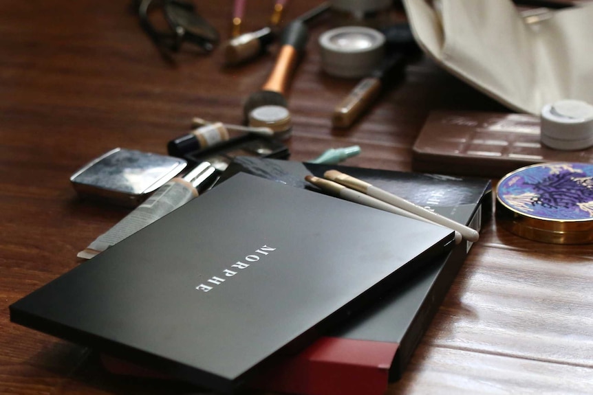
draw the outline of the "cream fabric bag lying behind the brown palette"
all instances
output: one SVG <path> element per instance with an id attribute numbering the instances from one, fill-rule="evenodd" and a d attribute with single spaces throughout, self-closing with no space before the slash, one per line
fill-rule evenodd
<path id="1" fill-rule="evenodd" d="M 528 23 L 510 0 L 404 0 L 416 41 L 444 69 L 510 109 L 593 104 L 593 5 Z"/>

